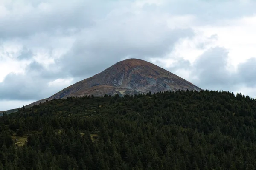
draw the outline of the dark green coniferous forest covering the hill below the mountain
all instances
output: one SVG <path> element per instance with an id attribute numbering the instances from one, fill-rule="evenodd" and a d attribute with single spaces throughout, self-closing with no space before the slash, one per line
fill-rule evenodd
<path id="1" fill-rule="evenodd" d="M 255 128 L 225 91 L 55 99 L 0 116 L 0 170 L 255 170 Z"/>

